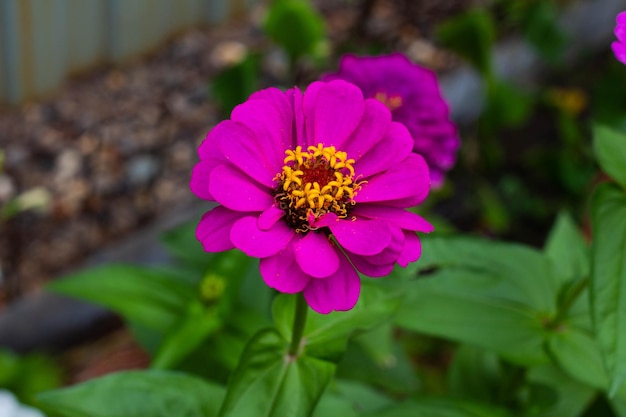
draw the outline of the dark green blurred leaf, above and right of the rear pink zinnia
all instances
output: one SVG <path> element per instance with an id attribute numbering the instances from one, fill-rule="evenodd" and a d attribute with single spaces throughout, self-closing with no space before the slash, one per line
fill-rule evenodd
<path id="1" fill-rule="evenodd" d="M 437 28 L 437 39 L 472 64 L 483 76 L 491 75 L 491 48 L 495 24 L 484 8 L 473 8 L 445 21 Z"/>

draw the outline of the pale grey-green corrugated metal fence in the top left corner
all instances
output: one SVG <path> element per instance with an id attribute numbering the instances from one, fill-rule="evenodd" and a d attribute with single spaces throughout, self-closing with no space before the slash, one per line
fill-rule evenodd
<path id="1" fill-rule="evenodd" d="M 0 103 L 54 91 L 72 71 L 126 60 L 259 0 L 0 0 Z"/>

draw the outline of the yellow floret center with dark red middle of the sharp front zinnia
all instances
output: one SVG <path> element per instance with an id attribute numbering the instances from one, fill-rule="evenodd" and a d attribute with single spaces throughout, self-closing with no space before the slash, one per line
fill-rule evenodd
<path id="1" fill-rule="evenodd" d="M 276 176 L 275 199 L 285 210 L 287 224 L 306 233 L 315 219 L 326 213 L 348 217 L 359 184 L 354 159 L 334 146 L 297 146 L 287 150 L 282 172 Z"/>

